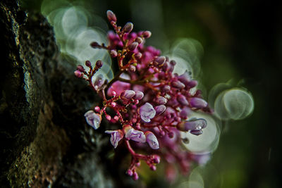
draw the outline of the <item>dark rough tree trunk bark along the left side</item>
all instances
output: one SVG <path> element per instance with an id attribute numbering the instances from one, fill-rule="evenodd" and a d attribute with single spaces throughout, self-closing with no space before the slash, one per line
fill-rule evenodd
<path id="1" fill-rule="evenodd" d="M 82 116 L 99 99 L 60 58 L 47 20 L 0 6 L 1 187 L 121 187 L 109 137 Z"/>

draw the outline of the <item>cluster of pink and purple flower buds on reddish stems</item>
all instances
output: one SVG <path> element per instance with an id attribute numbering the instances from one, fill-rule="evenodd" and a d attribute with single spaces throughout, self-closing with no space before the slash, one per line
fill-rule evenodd
<path id="1" fill-rule="evenodd" d="M 82 65 L 75 71 L 75 75 L 87 80 L 103 99 L 101 108 L 96 106 L 85 113 L 87 123 L 96 130 L 104 115 L 110 123 L 120 126 L 106 133 L 111 135 L 110 142 L 115 149 L 120 145 L 128 149 L 132 161 L 127 174 L 134 180 L 138 179 L 137 167 L 141 161 L 156 170 L 161 157 L 167 163 L 168 179 L 173 179 L 171 166 L 176 162 L 183 173 L 188 173 L 190 163 L 200 161 L 200 156 L 181 147 L 180 132 L 202 134 L 207 121 L 190 117 L 191 111 L 211 113 L 200 90 L 191 91 L 197 86 L 197 80 L 192 80 L 188 71 L 183 75 L 173 73 L 176 61 L 160 56 L 161 52 L 152 46 L 145 46 L 151 32 L 132 32 L 133 23 L 118 26 L 112 11 L 107 11 L 107 18 L 115 31 L 108 34 L 109 44 L 92 42 L 90 45 L 94 49 L 105 49 L 116 58 L 116 76 L 110 82 L 99 75 L 92 80 L 102 61 L 97 61 L 94 68 L 86 61 L 88 72 Z M 106 109 L 111 109 L 114 115 L 106 113 Z M 156 154 L 135 153 L 133 148 L 138 147 Z"/>

